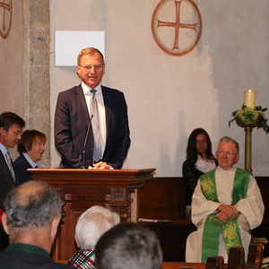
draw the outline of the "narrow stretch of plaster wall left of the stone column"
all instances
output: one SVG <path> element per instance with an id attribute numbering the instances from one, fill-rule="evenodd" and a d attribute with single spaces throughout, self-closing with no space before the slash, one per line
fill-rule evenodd
<path id="1" fill-rule="evenodd" d="M 26 92 L 23 92 L 23 50 L 22 50 L 22 2 L 13 3 L 12 26 L 6 39 L 0 37 L 0 113 L 13 111 L 20 117 L 24 115 L 23 103 Z M 3 27 L 3 9 L 0 23 Z M 6 25 L 7 27 L 7 25 Z M 27 121 L 27 120 L 26 120 Z M 17 157 L 16 147 L 11 151 L 13 160 Z"/>

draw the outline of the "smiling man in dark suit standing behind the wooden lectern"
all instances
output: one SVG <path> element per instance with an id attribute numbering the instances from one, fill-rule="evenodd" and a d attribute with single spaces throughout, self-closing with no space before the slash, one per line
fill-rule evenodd
<path id="1" fill-rule="evenodd" d="M 92 165 L 95 169 L 120 169 L 126 159 L 130 146 L 126 100 L 123 92 L 100 85 L 104 73 L 105 63 L 100 51 L 82 49 L 77 58 L 77 74 L 82 83 L 60 92 L 56 102 L 55 143 L 62 155 L 60 167 Z M 91 90 L 96 90 L 98 115 L 89 113 Z M 96 118 L 100 125 L 100 160 L 93 158 L 97 143 L 92 126 Z"/>

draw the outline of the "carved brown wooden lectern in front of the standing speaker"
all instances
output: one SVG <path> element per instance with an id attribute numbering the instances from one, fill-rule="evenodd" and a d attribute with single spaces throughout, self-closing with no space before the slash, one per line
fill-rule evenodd
<path id="1" fill-rule="evenodd" d="M 77 252 L 74 228 L 78 217 L 92 205 L 119 213 L 121 221 L 136 222 L 138 188 L 152 179 L 155 169 L 28 169 L 31 178 L 55 187 L 65 205 L 52 249 L 54 260 L 67 260 Z"/>

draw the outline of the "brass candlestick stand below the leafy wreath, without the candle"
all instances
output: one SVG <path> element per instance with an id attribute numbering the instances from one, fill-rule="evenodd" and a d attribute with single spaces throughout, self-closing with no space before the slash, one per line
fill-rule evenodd
<path id="1" fill-rule="evenodd" d="M 252 172 L 252 169 L 251 169 L 251 156 L 252 156 L 251 133 L 252 133 L 252 129 L 256 127 L 256 121 L 243 121 L 237 118 L 236 122 L 238 126 L 245 128 L 245 170 Z"/>

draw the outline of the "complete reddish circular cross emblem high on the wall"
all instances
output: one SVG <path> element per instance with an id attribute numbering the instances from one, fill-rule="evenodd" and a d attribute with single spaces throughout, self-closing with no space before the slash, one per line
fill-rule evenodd
<path id="1" fill-rule="evenodd" d="M 172 56 L 192 51 L 202 34 L 202 17 L 193 0 L 161 0 L 152 15 L 152 34 Z"/>

